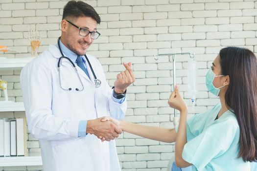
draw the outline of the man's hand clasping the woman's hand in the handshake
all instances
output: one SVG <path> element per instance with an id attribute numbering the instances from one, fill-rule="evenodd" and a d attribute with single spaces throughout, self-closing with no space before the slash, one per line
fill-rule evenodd
<path id="1" fill-rule="evenodd" d="M 105 141 L 111 141 L 118 137 L 122 132 L 114 123 L 110 121 L 101 122 L 104 117 L 88 120 L 87 133 L 101 136 Z"/>

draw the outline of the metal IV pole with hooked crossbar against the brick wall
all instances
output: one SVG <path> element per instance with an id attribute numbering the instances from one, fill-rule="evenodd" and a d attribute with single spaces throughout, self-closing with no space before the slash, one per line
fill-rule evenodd
<path id="1" fill-rule="evenodd" d="M 189 55 L 191 59 L 194 59 L 194 53 L 168 53 L 168 54 L 159 54 L 154 55 L 154 59 L 157 61 L 159 58 L 158 56 L 172 56 L 173 62 L 173 90 L 175 90 L 176 85 L 176 55 Z M 173 118 L 174 128 L 176 128 L 179 124 L 179 118 L 177 117 L 177 110 L 174 108 L 174 118 Z"/>

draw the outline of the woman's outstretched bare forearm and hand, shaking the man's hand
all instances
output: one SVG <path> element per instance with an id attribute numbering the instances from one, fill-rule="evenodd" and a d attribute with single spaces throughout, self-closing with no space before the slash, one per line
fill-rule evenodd
<path id="1" fill-rule="evenodd" d="M 105 119 L 102 120 L 102 122 L 105 122 L 107 120 L 115 123 L 118 127 L 120 127 L 125 132 L 139 135 L 144 138 L 162 141 L 166 143 L 172 143 L 176 141 L 177 133 L 174 128 L 160 128 L 160 127 L 145 126 L 145 125 L 127 122 L 124 120 L 117 121 L 116 119 L 110 118 L 110 117 L 106 117 Z"/>

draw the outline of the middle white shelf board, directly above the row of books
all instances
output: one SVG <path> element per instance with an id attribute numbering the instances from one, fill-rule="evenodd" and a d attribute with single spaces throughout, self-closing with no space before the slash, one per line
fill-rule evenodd
<path id="1" fill-rule="evenodd" d="M 25 111 L 23 102 L 2 102 L 0 101 L 0 112 Z"/>

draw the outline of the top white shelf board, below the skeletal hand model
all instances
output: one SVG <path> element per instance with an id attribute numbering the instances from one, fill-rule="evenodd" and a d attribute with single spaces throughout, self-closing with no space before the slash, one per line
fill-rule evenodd
<path id="1" fill-rule="evenodd" d="M 0 70 L 22 69 L 25 64 L 30 62 L 33 57 L 29 58 L 0 58 Z"/>

